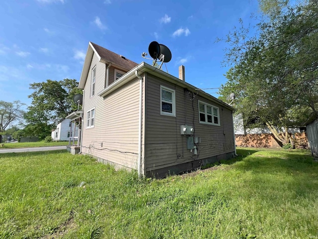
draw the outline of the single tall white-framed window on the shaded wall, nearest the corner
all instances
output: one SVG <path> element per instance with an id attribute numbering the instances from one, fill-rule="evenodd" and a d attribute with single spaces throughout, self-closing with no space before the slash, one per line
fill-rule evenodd
<path id="1" fill-rule="evenodd" d="M 160 86 L 160 114 L 175 116 L 175 91 Z"/>

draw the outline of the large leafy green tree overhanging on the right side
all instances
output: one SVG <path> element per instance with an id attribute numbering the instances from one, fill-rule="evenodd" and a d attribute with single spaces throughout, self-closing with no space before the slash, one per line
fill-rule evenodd
<path id="1" fill-rule="evenodd" d="M 252 37 L 243 27 L 228 35 L 226 62 L 234 66 L 220 95 L 234 91 L 245 123 L 267 125 L 282 144 L 293 143 L 288 127 L 317 115 L 317 0 L 275 11 L 257 29 Z"/>

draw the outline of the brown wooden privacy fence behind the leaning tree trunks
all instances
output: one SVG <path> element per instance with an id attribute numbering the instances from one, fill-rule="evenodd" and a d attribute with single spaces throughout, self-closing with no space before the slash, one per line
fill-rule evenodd
<path id="1" fill-rule="evenodd" d="M 308 140 L 305 132 L 293 133 L 291 136 L 295 139 L 296 148 L 308 148 Z M 282 146 L 271 133 L 236 134 L 235 140 L 236 145 L 240 147 L 276 148 Z"/>

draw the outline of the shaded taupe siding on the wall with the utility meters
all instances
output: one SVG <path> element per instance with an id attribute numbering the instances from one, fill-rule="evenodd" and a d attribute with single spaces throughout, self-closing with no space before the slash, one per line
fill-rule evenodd
<path id="1" fill-rule="evenodd" d="M 192 92 L 188 94 L 182 87 L 167 83 L 150 74 L 146 79 L 147 171 L 234 151 L 233 121 L 230 110 L 199 95 L 192 101 Z M 160 115 L 160 85 L 175 90 L 176 117 Z M 219 107 L 221 126 L 199 123 L 198 100 Z M 181 124 L 194 126 L 194 136 L 201 137 L 201 143 L 197 144 L 198 155 L 193 155 L 187 149 L 186 136 L 180 133 Z"/>

